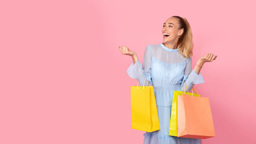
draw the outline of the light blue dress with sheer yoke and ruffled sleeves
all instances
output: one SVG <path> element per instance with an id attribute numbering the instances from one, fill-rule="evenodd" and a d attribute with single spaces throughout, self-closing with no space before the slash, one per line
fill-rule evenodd
<path id="1" fill-rule="evenodd" d="M 191 58 L 184 58 L 178 49 L 168 49 L 163 43 L 149 44 L 145 49 L 143 64 L 139 60 L 135 64 L 132 62 L 126 72 L 132 79 L 138 79 L 141 86 L 145 79 L 149 80 L 149 86 L 153 85 L 155 92 L 160 130 L 146 132 L 144 144 L 202 143 L 201 139 L 168 136 L 173 91 L 183 91 L 184 82 L 188 91 L 194 84 L 205 82 L 201 73 L 191 71 Z"/>

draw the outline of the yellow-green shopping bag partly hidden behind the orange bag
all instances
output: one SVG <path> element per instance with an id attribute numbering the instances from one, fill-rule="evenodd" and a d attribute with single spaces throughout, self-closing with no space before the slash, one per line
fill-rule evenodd
<path id="1" fill-rule="evenodd" d="M 174 91 L 173 92 L 173 103 L 171 106 L 171 119 L 170 119 L 170 130 L 169 130 L 169 136 L 178 136 L 178 95 L 182 95 L 182 94 L 187 94 L 187 95 L 192 95 L 195 97 L 200 97 L 199 94 L 195 94 L 194 92 L 185 92 L 185 86 L 187 88 L 186 83 L 183 83 L 183 91 Z M 194 88 L 194 87 L 193 87 Z M 188 88 L 187 88 L 188 91 Z M 192 89 L 193 91 L 193 89 Z M 196 91 L 196 90 L 194 90 Z"/>

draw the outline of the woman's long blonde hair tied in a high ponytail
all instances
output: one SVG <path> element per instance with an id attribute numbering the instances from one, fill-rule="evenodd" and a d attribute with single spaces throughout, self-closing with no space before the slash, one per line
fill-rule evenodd
<path id="1" fill-rule="evenodd" d="M 178 52 L 184 58 L 191 58 L 193 55 L 193 35 L 188 20 L 179 16 L 172 16 L 179 20 L 179 28 L 184 29 L 183 34 L 178 40 Z"/>

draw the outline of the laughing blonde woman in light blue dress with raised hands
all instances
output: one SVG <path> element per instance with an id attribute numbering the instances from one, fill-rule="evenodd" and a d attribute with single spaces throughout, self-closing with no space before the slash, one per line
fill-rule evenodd
<path id="1" fill-rule="evenodd" d="M 188 91 L 194 84 L 204 83 L 200 70 L 205 62 L 212 62 L 217 56 L 207 53 L 197 61 L 191 71 L 193 38 L 187 19 L 179 16 L 170 17 L 164 23 L 162 34 L 164 43 L 149 44 L 146 47 L 142 65 L 136 52 L 126 46 L 120 47 L 123 55 L 132 56 L 133 59 L 127 74 L 132 79 L 138 79 L 141 86 L 145 79 L 149 80 L 155 92 L 160 130 L 152 133 L 146 132 L 144 144 L 202 143 L 201 139 L 168 136 L 173 91 L 182 91 L 184 82 L 187 84 Z"/>

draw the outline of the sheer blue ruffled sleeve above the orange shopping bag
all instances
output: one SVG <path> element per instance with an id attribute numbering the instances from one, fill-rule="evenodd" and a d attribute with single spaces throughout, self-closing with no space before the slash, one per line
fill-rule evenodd
<path id="1" fill-rule="evenodd" d="M 191 91 L 192 87 L 199 83 L 205 83 L 205 80 L 203 80 L 202 73 L 199 72 L 199 74 L 196 73 L 196 71 L 191 71 L 191 58 L 187 59 L 186 67 L 185 67 L 185 73 L 184 77 L 182 79 L 181 83 L 181 90 L 183 91 L 183 84 L 186 82 L 186 85 L 188 87 L 188 91 Z M 185 86 L 185 85 L 184 85 Z M 185 92 L 187 92 L 187 88 L 185 87 Z"/>

